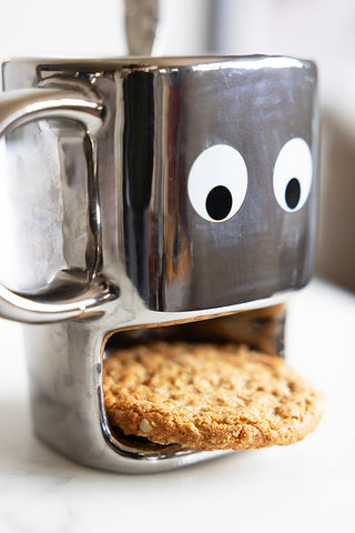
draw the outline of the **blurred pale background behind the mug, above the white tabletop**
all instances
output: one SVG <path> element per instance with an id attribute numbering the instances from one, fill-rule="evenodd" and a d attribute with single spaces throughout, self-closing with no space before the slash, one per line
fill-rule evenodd
<path id="1" fill-rule="evenodd" d="M 320 72 L 316 273 L 355 291 L 354 0 L 160 0 L 156 54 L 268 53 Z M 124 0 L 2 0 L 0 59 L 128 53 Z"/>

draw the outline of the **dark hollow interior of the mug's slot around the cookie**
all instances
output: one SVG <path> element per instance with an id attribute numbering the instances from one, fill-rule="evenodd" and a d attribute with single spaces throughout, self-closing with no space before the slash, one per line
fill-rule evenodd
<path id="1" fill-rule="evenodd" d="M 106 341 L 103 365 L 110 353 L 155 341 L 246 344 L 253 350 L 271 355 L 284 355 L 285 305 L 277 304 L 251 311 L 237 312 L 224 316 L 213 316 L 187 323 L 135 328 L 113 333 Z M 102 405 L 104 403 L 102 402 Z M 105 408 L 103 406 L 103 410 Z M 106 420 L 105 433 L 111 445 L 120 453 L 139 454 L 144 457 L 168 457 L 191 453 L 196 450 L 180 444 L 156 444 L 145 436 L 125 435 L 120 428 Z"/>

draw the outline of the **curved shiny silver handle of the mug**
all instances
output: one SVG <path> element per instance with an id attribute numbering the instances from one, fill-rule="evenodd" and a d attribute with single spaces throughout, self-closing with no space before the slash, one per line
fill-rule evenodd
<path id="1" fill-rule="evenodd" d="M 0 97 L 0 138 L 20 125 L 39 119 L 64 118 L 80 122 L 89 140 L 85 143 L 88 175 L 91 174 L 95 182 L 95 134 L 103 123 L 104 111 L 104 107 L 94 95 L 89 97 L 72 89 L 33 88 L 11 91 Z M 83 286 L 78 282 L 72 285 L 74 291 L 71 292 L 75 293 L 74 296 L 62 295 L 60 286 L 52 295 L 39 296 L 14 292 L 0 283 L 0 315 L 28 323 L 84 318 L 95 315 L 93 308 L 119 295 L 118 289 L 100 278 L 97 272 Z"/>

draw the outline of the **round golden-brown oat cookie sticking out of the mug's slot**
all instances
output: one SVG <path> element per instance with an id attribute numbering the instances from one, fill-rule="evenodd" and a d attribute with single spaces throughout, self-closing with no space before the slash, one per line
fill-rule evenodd
<path id="1" fill-rule="evenodd" d="M 276 355 L 235 344 L 155 341 L 104 361 L 109 421 L 124 434 L 200 450 L 291 444 L 313 431 L 322 396 Z"/>

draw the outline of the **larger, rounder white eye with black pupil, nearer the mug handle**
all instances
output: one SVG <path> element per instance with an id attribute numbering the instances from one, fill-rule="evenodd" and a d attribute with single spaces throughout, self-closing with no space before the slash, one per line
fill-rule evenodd
<path id="1" fill-rule="evenodd" d="M 242 207 L 247 170 L 237 150 L 226 144 L 207 148 L 193 162 L 187 194 L 193 209 L 210 222 L 224 222 Z"/>

